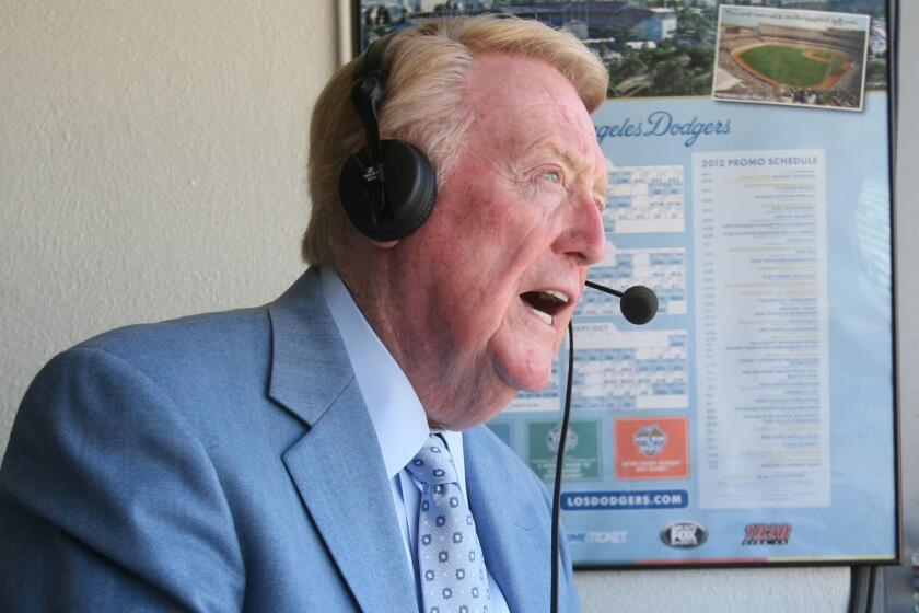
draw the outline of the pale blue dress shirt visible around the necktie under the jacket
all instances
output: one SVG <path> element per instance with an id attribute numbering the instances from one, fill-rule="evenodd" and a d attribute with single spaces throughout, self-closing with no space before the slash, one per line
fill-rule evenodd
<path id="1" fill-rule="evenodd" d="M 328 310 L 345 344 L 358 386 L 367 404 L 383 463 L 389 476 L 393 505 L 402 528 L 405 554 L 415 569 L 415 585 L 418 601 L 421 602 L 418 574 L 418 507 L 421 504 L 421 484 L 405 470 L 431 430 L 421 401 L 408 382 L 386 346 L 370 327 L 358 305 L 351 298 L 338 274 L 329 267 L 319 269 L 323 293 Z M 449 430 L 439 431 L 453 455 L 460 489 L 466 496 L 466 465 L 463 455 L 463 435 Z M 466 498 L 468 500 L 468 496 Z M 488 559 L 486 567 L 488 565 Z M 491 572 L 488 574 L 491 590 L 489 611 L 509 613 L 504 595 Z"/>

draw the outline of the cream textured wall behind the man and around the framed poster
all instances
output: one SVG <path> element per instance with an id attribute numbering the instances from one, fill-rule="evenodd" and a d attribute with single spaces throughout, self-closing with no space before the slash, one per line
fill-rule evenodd
<path id="1" fill-rule="evenodd" d="M 916 32 L 919 3 L 904 4 L 901 32 Z M 265 302 L 296 277 L 306 124 L 337 27 L 333 0 L 0 2 L 0 452 L 57 351 L 128 322 Z M 919 96 L 911 48 L 904 107 Z M 916 123 L 904 127 L 901 171 L 919 160 Z M 915 177 L 904 181 L 914 193 Z M 917 216 L 899 222 L 899 269 L 916 270 Z M 917 338 L 916 294 L 901 273 L 901 337 Z M 915 346 L 900 347 L 901 366 L 916 363 Z M 901 403 L 917 396 L 907 384 Z M 592 571 L 578 582 L 586 612 L 842 612 L 848 577 Z"/>

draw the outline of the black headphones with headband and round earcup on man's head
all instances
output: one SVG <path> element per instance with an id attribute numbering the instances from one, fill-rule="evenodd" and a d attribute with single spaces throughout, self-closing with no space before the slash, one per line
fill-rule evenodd
<path id="1" fill-rule="evenodd" d="M 380 140 L 376 108 L 386 93 L 389 36 L 371 44 L 354 67 L 351 104 L 367 146 L 348 158 L 338 177 L 338 197 L 348 218 L 375 241 L 395 241 L 417 230 L 434 206 L 437 175 L 428 157 L 402 140 Z"/>

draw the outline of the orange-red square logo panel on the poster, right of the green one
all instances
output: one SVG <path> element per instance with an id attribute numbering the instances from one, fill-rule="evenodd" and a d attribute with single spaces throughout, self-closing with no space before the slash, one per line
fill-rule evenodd
<path id="1" fill-rule="evenodd" d="M 616 419 L 616 478 L 689 478 L 689 423 L 686 417 Z"/>

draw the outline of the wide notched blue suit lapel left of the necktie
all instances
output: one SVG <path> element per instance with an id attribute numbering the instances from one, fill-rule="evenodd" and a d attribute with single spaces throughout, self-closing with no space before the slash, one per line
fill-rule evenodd
<path id="1" fill-rule="evenodd" d="M 269 313 L 269 395 L 309 427 L 283 453 L 291 479 L 361 610 L 415 611 L 383 456 L 316 271 Z"/>

